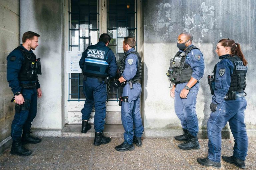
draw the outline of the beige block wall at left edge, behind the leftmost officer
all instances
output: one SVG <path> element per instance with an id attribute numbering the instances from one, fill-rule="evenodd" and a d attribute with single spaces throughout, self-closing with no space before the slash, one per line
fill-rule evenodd
<path id="1" fill-rule="evenodd" d="M 0 142 L 10 136 L 14 116 L 13 93 L 6 80 L 7 55 L 19 45 L 19 0 L 0 1 Z M 1 152 L 1 151 L 0 151 Z"/>

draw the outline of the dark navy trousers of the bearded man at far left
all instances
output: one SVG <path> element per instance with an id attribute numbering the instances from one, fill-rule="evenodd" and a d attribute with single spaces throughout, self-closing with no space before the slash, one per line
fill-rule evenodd
<path id="1" fill-rule="evenodd" d="M 27 110 L 23 107 L 20 113 L 15 112 L 14 120 L 12 121 L 11 136 L 12 140 L 21 138 L 22 130 L 30 131 L 31 123 L 36 117 L 37 111 L 37 89 L 24 89 L 22 88 L 21 94 L 24 97 Z"/>

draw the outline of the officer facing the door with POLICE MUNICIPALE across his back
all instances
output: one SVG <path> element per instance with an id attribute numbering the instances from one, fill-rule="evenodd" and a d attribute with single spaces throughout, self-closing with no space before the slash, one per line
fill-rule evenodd
<path id="1" fill-rule="evenodd" d="M 115 77 L 117 73 L 116 57 L 113 51 L 107 47 L 111 38 L 108 34 L 102 34 L 99 42 L 90 45 L 83 52 L 79 61 L 83 70 L 84 82 L 83 92 L 86 97 L 84 108 L 82 109 L 82 133 L 91 129 L 88 124 L 92 107 L 94 104 L 94 145 L 98 146 L 110 142 L 110 137 L 104 137 L 103 129 L 106 117 L 106 100 L 108 79 Z"/>

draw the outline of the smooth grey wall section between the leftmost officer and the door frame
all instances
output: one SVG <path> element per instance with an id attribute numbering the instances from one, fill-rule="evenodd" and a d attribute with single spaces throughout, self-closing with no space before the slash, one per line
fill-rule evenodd
<path id="1" fill-rule="evenodd" d="M 37 116 L 32 128 L 62 128 L 62 46 L 63 0 L 22 0 L 21 35 L 33 31 L 40 35 L 34 51 L 41 58 L 39 75 L 42 98 L 38 100 Z M 29 10 L 28 10 L 29 9 Z M 52 134 L 54 135 L 54 134 Z"/>

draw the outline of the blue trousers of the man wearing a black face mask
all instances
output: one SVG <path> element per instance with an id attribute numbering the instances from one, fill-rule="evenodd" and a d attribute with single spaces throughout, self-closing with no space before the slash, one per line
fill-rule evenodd
<path id="1" fill-rule="evenodd" d="M 174 108 L 183 129 L 196 136 L 198 133 L 198 119 L 196 115 L 196 97 L 199 83 L 196 83 L 189 91 L 187 98 L 180 98 L 180 92 L 187 83 L 177 84 L 175 87 Z"/>

